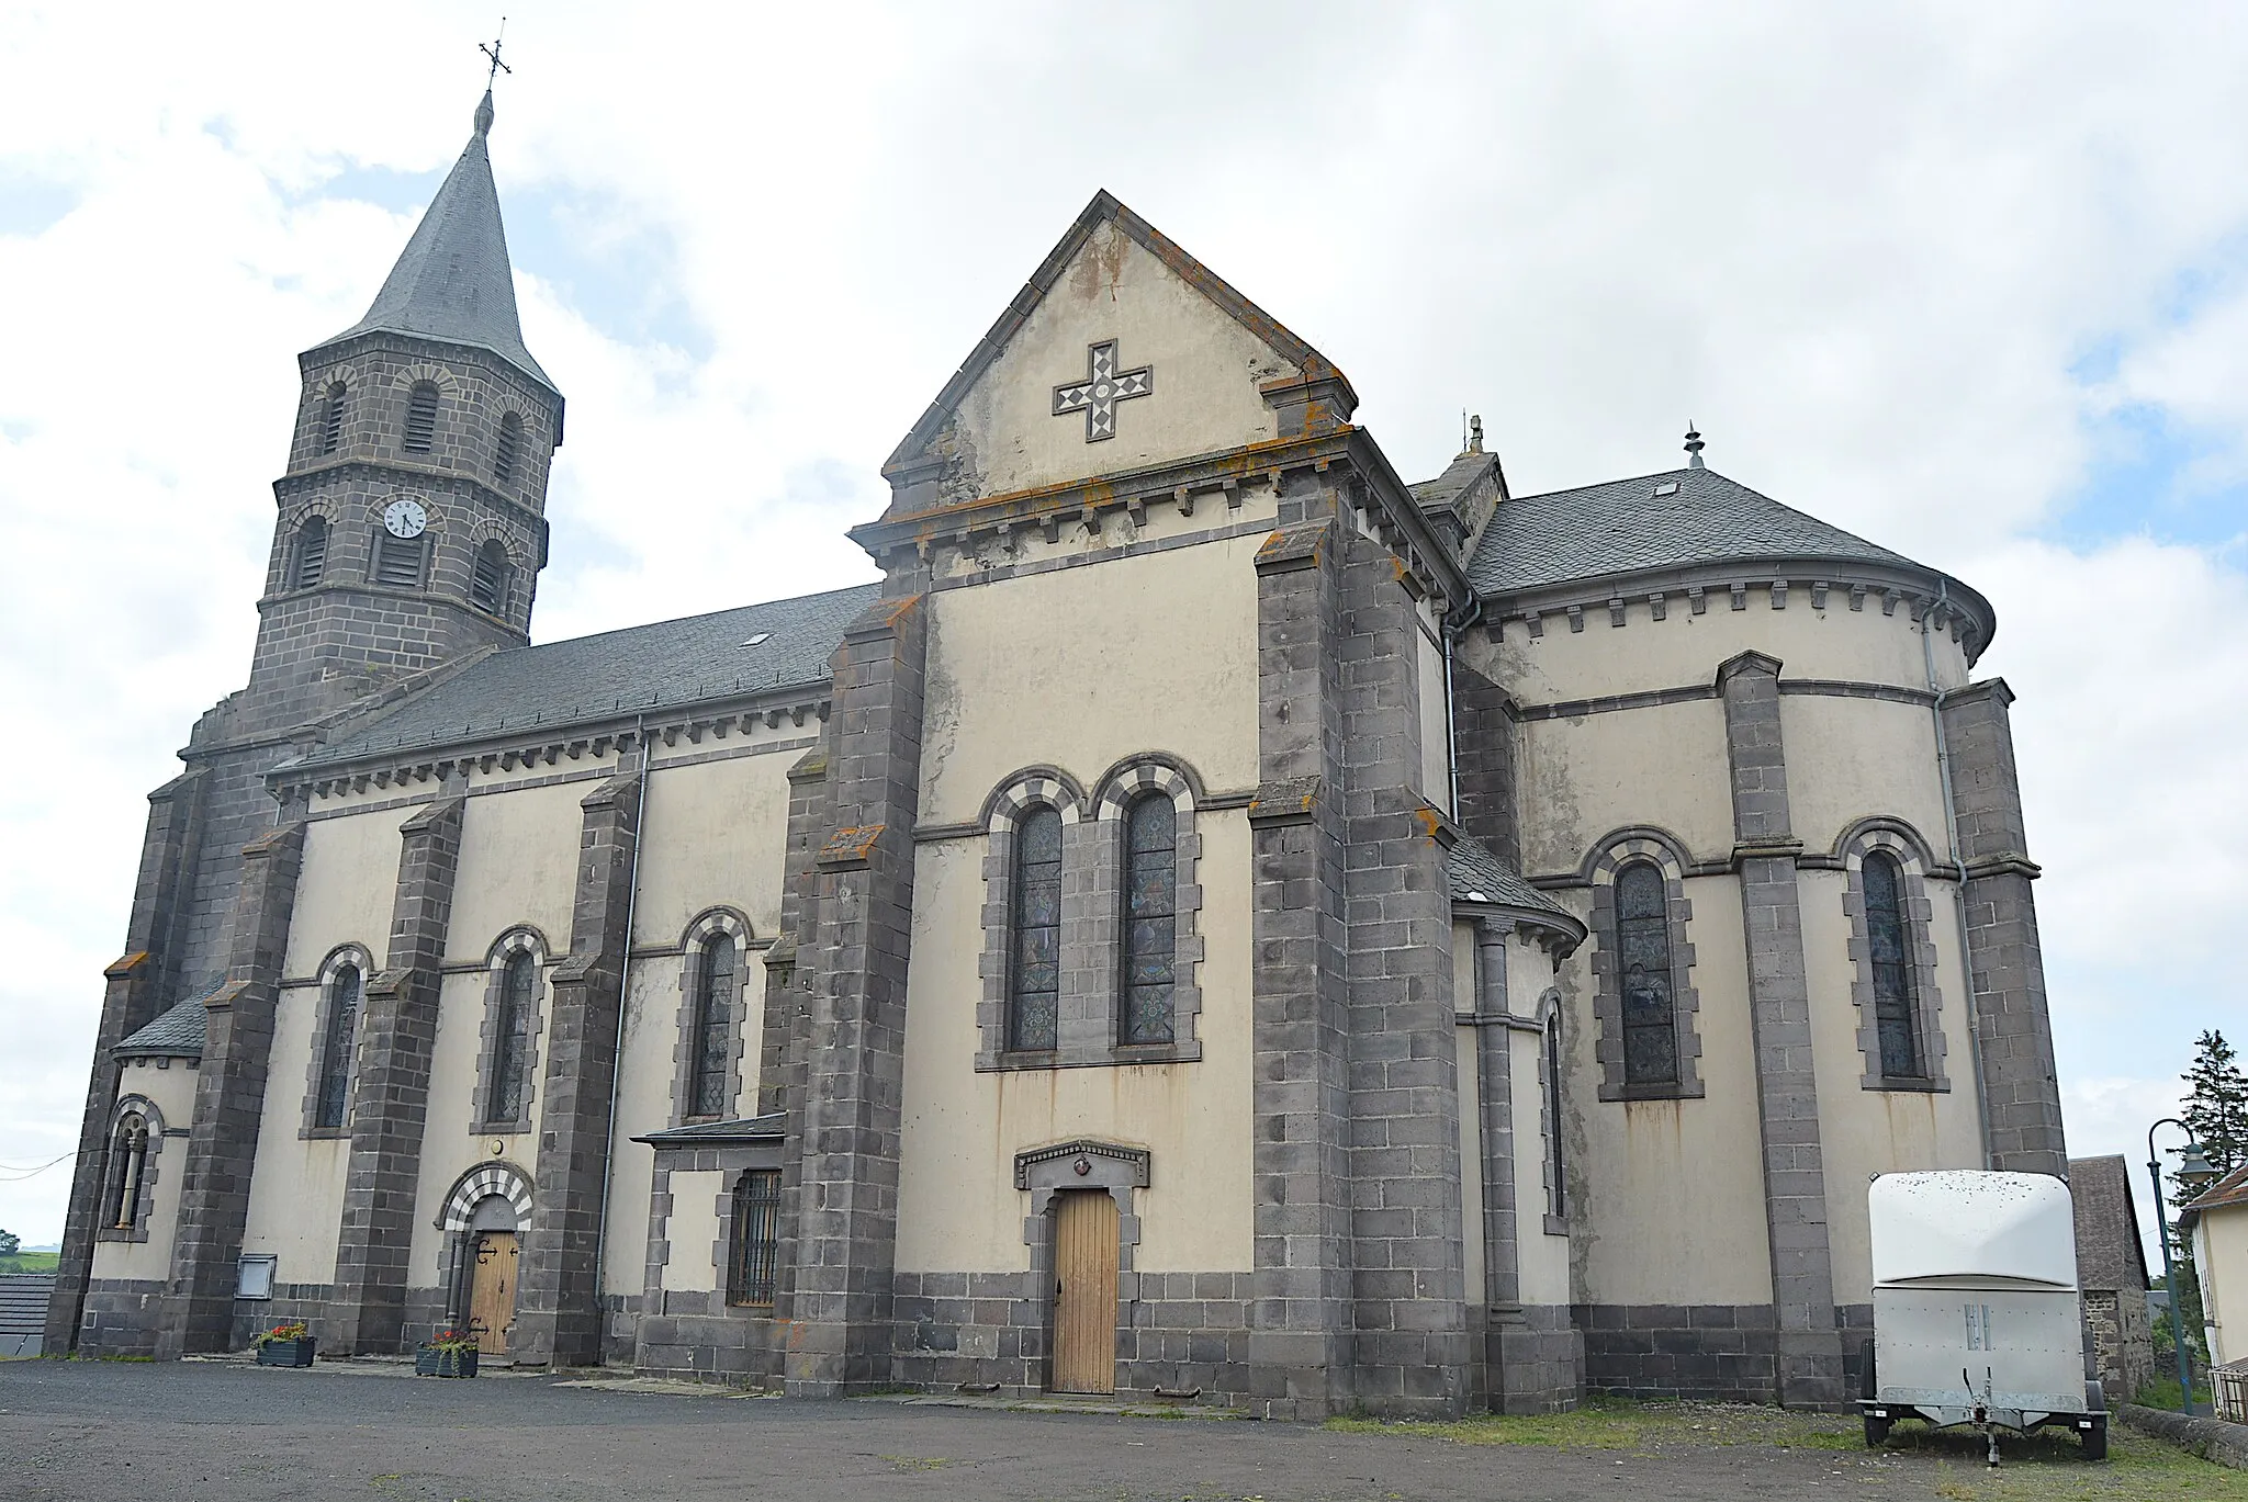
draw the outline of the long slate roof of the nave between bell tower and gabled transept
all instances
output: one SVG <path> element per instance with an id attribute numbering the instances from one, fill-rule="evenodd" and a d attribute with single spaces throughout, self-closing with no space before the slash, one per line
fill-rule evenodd
<path id="1" fill-rule="evenodd" d="M 609 720 L 733 693 L 823 684 L 843 630 L 879 594 L 879 585 L 854 585 L 492 652 L 402 699 L 360 731 L 288 762 L 288 769 L 450 747 L 528 726 Z M 764 641 L 744 645 L 760 634 Z"/>

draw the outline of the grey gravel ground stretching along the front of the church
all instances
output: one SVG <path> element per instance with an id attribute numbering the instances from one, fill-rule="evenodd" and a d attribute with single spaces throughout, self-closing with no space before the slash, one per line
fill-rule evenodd
<path id="1" fill-rule="evenodd" d="M 2154 1441 L 2118 1437 L 2118 1464 L 2097 1468 L 2061 1441 L 1994 1480 L 1965 1441 L 1868 1455 L 1848 1421 L 1762 1410 L 1308 1428 L 629 1387 L 326 1363 L 0 1363 L 0 1498 L 2248 1498 L 2230 1491 L 2241 1473 L 2169 1453 L 2181 1468 Z"/>

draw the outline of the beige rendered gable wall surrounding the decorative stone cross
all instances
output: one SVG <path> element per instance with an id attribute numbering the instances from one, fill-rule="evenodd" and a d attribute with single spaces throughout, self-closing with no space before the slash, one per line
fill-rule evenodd
<path id="1" fill-rule="evenodd" d="M 1084 380 L 1086 346 L 1106 340 L 1120 342 L 1120 369 L 1153 367 L 1155 387 L 1117 402 L 1115 436 L 1088 445 L 1084 414 L 1054 416 L 1054 387 Z M 1261 340 L 1104 223 L 960 400 L 964 488 L 1005 495 L 1272 438 L 1259 384 L 1284 373 L 1293 367 Z"/>

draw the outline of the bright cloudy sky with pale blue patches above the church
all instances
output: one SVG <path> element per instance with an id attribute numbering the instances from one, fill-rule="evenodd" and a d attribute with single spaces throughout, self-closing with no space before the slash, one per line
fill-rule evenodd
<path id="1" fill-rule="evenodd" d="M 1106 187 L 1333 355 L 1407 477 L 1461 409 L 1515 492 L 1670 468 L 1693 418 L 1980 587 L 2073 1151 L 2138 1162 L 2194 1032 L 2248 1032 L 2237 7 L 501 2 L 492 160 L 571 409 L 540 639 L 870 578 L 883 454 Z M 27 1243 L 142 796 L 247 670 L 294 355 L 373 297 L 495 22 L 0 7 Z"/>

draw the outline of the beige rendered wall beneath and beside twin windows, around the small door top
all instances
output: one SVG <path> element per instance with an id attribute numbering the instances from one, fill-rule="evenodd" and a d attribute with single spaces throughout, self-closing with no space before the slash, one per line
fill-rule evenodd
<path id="1" fill-rule="evenodd" d="M 982 839 L 924 843 L 915 861 L 906 1005 L 897 1266 L 1030 1266 L 1014 1156 L 1079 1135 L 1146 1147 L 1142 1273 L 1245 1273 L 1250 1248 L 1250 843 L 1241 812 L 1203 814 L 1196 1064 L 976 1073 Z"/>

